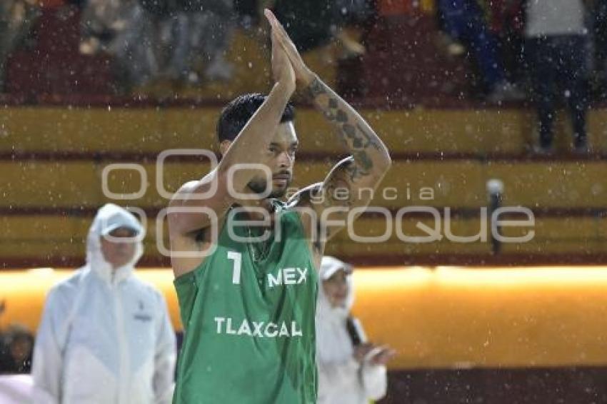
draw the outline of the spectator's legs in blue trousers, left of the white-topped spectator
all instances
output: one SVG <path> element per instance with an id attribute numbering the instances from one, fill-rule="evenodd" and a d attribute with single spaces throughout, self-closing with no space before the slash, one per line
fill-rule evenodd
<path id="1" fill-rule="evenodd" d="M 476 0 L 437 0 L 440 26 L 460 41 L 478 66 L 483 81 L 483 92 L 489 101 L 523 98 L 521 91 L 506 78 L 498 42 L 488 29 L 485 13 Z"/>

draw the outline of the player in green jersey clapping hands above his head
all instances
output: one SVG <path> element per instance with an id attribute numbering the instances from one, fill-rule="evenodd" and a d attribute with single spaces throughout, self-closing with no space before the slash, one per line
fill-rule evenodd
<path id="1" fill-rule="evenodd" d="M 366 121 L 308 69 L 274 14 L 266 17 L 270 94 L 226 106 L 217 126 L 221 162 L 185 183 L 169 206 L 185 329 L 174 403 L 316 402 L 315 268 L 340 229 L 326 225 L 368 205 L 358 189 L 376 188 L 391 165 Z M 296 89 L 333 123 L 351 156 L 283 203 L 298 147 L 289 104 Z"/>

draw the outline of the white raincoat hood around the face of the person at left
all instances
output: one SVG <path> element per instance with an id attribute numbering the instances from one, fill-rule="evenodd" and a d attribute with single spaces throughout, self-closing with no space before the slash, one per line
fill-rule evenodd
<path id="1" fill-rule="evenodd" d="M 133 213 L 118 205 L 114 205 L 114 203 L 106 203 L 106 205 L 97 211 L 86 239 L 86 266 L 89 266 L 91 271 L 94 271 L 108 282 L 111 282 L 112 279 L 112 266 L 105 260 L 101 252 L 101 237 L 107 236 L 116 230 L 116 228 L 121 227 L 130 228 L 136 232 L 136 236 L 134 237 L 136 246 L 133 258 L 124 266 L 116 268 L 114 273 L 114 280 L 116 282 L 122 281 L 133 273 L 135 264 L 144 253 L 143 239 L 145 237 L 145 229 Z"/>

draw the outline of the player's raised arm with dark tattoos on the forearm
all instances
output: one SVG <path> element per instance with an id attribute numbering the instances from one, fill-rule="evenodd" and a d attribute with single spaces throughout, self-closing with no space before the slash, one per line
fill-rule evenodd
<path id="1" fill-rule="evenodd" d="M 303 89 L 316 108 L 333 124 L 339 141 L 351 155 L 337 163 L 322 183 L 309 186 L 295 196 L 302 203 L 318 200 L 318 203 L 308 203 L 316 211 L 317 218 L 322 217 L 326 208 L 343 208 L 330 216 L 332 220 L 338 220 L 340 216 L 343 218 L 347 215 L 351 208 L 368 205 L 369 193 L 358 191 L 378 186 L 391 166 L 388 149 L 362 116 L 308 69 L 276 17 L 269 11 L 266 14 L 271 15 L 272 29 L 279 34 L 278 39 L 293 65 L 298 88 Z M 311 198 L 313 194 L 322 197 Z M 336 226 L 328 228 L 326 235 L 331 237 L 339 229 Z"/>

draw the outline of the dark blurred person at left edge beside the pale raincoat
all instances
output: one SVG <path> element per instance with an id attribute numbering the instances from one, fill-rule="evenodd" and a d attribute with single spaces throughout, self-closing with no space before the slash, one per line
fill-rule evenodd
<path id="1" fill-rule="evenodd" d="M 23 325 L 14 324 L 0 340 L 0 373 L 29 373 L 34 335 Z"/>

